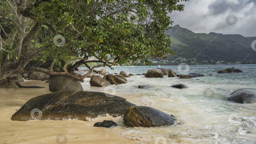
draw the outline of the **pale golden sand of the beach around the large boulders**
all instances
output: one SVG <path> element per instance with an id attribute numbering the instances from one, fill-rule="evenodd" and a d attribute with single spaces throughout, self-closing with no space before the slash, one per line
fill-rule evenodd
<path id="1" fill-rule="evenodd" d="M 80 120 L 67 121 L 12 121 L 11 117 L 29 99 L 51 93 L 45 81 L 24 80 L 23 86 L 41 86 L 46 88 L 19 88 L 15 84 L 0 88 L 0 143 L 48 143 L 57 144 L 67 138 L 67 143 L 76 144 L 137 144 L 133 140 L 118 136 L 120 133 L 108 128 L 93 127 L 94 123 L 111 120 L 112 117 L 97 118 L 92 122 Z M 87 88 L 86 90 L 89 90 Z M 64 138 L 65 137 L 65 138 Z"/>

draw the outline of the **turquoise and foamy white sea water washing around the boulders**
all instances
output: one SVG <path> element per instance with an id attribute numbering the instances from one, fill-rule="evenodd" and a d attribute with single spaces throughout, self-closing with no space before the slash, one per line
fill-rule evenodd
<path id="1" fill-rule="evenodd" d="M 235 67 L 244 73 L 217 74 L 218 70 Z M 142 74 L 151 67 L 106 68 L 110 73 L 125 71 L 127 74 Z M 144 105 L 174 115 L 178 122 L 173 126 L 158 128 L 131 128 L 122 117 L 114 118 L 119 132 L 139 143 L 165 144 L 255 144 L 256 105 L 238 104 L 227 100 L 229 94 L 240 88 L 256 88 L 256 65 L 199 65 L 161 66 L 180 73 L 200 73 L 204 77 L 192 79 L 146 78 L 144 75 L 127 78 L 128 83 L 95 88 L 97 91 L 124 96 L 127 101 Z M 99 70 L 101 68 L 98 68 Z M 211 76 L 210 76 L 211 74 Z M 187 89 L 170 87 L 175 83 L 189 86 Z M 89 81 L 82 84 L 88 87 Z M 139 85 L 148 88 L 139 89 Z M 255 143 L 254 143 L 255 142 Z"/>

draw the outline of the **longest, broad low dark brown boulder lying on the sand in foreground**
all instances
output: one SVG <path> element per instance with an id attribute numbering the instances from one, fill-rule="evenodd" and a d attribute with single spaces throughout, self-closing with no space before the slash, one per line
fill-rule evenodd
<path id="1" fill-rule="evenodd" d="M 29 99 L 15 112 L 11 120 L 88 121 L 106 114 L 112 117 L 122 116 L 125 109 L 131 106 L 136 105 L 118 96 L 108 97 L 107 93 L 64 90 Z"/>

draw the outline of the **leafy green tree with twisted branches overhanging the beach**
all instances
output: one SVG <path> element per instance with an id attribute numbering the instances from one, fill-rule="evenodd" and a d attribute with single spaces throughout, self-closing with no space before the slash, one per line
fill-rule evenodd
<path id="1" fill-rule="evenodd" d="M 1 80 L 40 71 L 83 81 L 97 67 L 150 65 L 149 59 L 174 55 L 165 31 L 173 22 L 167 14 L 183 10 L 184 5 L 177 2 L 180 0 L 5 0 L 0 24 L 11 30 L 1 48 Z M 31 67 L 33 60 L 51 64 Z M 79 61 L 72 63 L 74 60 Z M 88 63 L 92 62 L 101 64 L 91 68 Z M 53 70 L 57 63 L 62 70 Z M 71 74 L 82 64 L 90 69 L 86 75 Z"/>

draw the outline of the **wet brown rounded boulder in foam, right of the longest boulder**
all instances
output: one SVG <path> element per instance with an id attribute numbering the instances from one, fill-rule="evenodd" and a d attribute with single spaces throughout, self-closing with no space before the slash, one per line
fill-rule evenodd
<path id="1" fill-rule="evenodd" d="M 173 125 L 176 118 L 148 106 L 131 106 L 125 110 L 125 124 L 131 127 L 158 127 Z"/>

